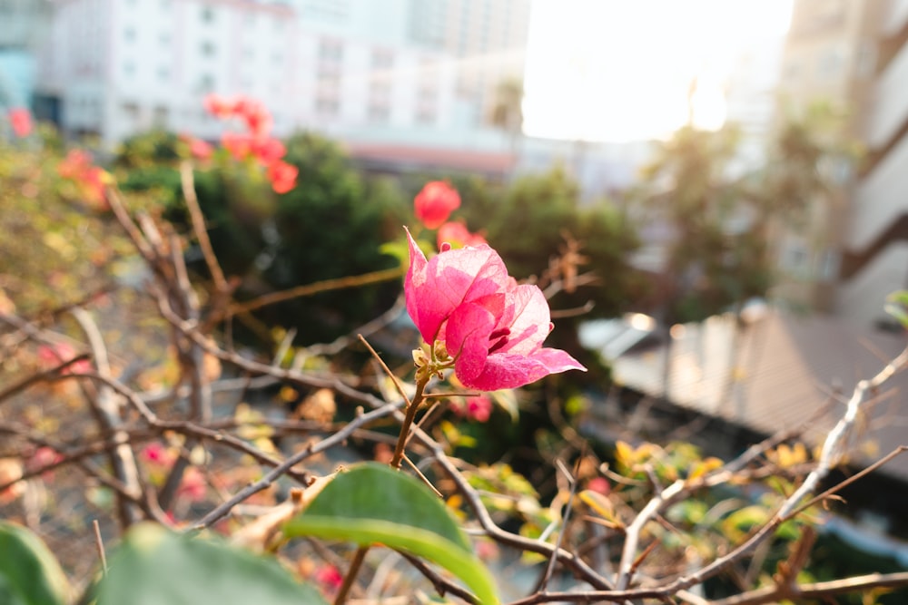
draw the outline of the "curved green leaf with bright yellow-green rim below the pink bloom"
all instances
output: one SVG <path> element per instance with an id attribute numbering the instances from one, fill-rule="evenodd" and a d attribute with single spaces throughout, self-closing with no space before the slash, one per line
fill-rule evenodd
<path id="1" fill-rule="evenodd" d="M 489 571 L 444 504 L 417 479 L 384 464 L 339 473 L 284 533 L 408 551 L 459 577 L 479 602 L 498 603 Z"/>

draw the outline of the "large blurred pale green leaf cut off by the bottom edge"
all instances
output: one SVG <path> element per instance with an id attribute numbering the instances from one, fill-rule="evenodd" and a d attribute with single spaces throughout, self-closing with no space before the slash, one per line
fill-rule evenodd
<path id="1" fill-rule="evenodd" d="M 136 525 L 95 588 L 98 605 L 325 605 L 265 555 Z"/>

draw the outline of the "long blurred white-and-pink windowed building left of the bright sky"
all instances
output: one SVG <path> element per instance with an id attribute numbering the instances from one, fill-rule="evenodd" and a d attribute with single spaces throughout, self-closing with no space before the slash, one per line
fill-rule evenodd
<path id="1" fill-rule="evenodd" d="M 52 5 L 39 87 L 66 132 L 111 143 L 160 126 L 213 139 L 222 126 L 203 96 L 246 94 L 267 103 L 280 135 L 415 148 L 483 130 L 497 79 L 522 75 L 529 11 L 529 0 Z"/>

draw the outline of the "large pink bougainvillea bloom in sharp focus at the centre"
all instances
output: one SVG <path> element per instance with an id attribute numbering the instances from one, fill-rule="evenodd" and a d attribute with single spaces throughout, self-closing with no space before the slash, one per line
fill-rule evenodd
<path id="1" fill-rule="evenodd" d="M 410 231 L 407 236 L 407 311 L 427 343 L 444 344 L 463 385 L 495 391 L 586 371 L 565 351 L 542 346 L 553 327 L 548 301 L 537 286 L 509 277 L 495 250 L 446 247 L 427 260 Z"/>

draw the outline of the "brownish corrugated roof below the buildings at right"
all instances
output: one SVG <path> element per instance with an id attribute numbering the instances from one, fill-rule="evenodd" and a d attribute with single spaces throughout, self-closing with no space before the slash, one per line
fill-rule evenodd
<path id="1" fill-rule="evenodd" d="M 857 382 L 870 378 L 908 345 L 908 335 L 861 332 L 831 317 L 770 313 L 735 342 L 734 319 L 711 317 L 674 339 L 668 398 L 764 434 L 806 426 L 818 443 L 844 413 Z M 735 355 L 733 356 L 733 352 Z M 614 364 L 616 380 L 663 395 L 665 347 L 630 352 Z M 908 372 L 866 404 L 868 422 L 853 437 L 855 462 L 869 464 L 908 445 Z M 908 479 L 908 455 L 883 467 Z"/>

